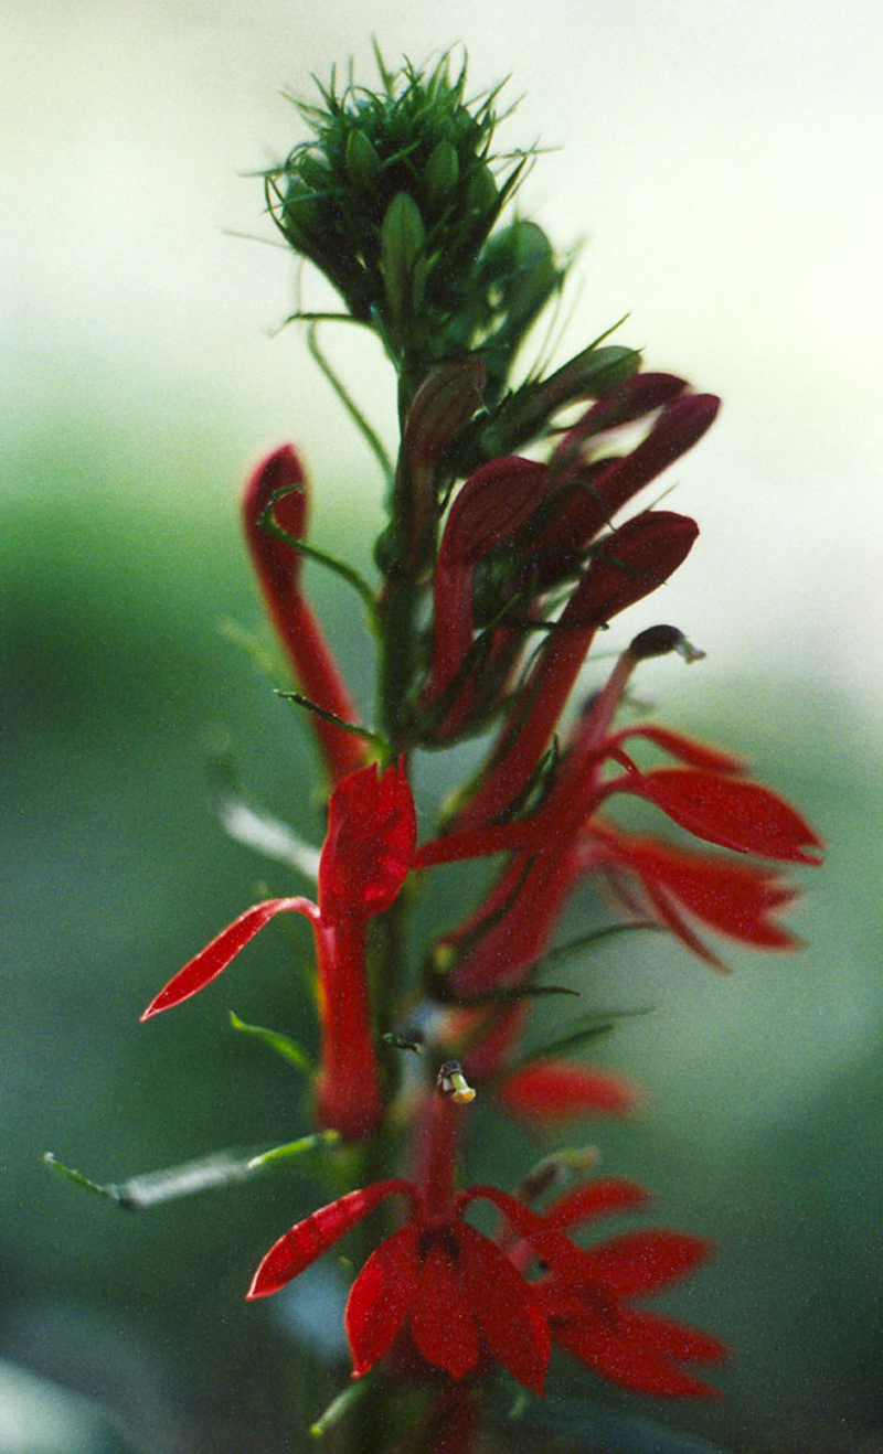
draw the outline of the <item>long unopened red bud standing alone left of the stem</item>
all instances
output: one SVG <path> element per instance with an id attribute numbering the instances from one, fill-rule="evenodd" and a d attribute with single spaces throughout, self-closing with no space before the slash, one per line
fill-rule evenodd
<path id="1" fill-rule="evenodd" d="M 301 553 L 260 525 L 276 490 L 289 490 L 273 505 L 275 523 L 292 539 L 307 529 L 304 471 L 291 445 L 282 445 L 257 465 L 243 496 L 243 523 L 260 590 L 279 640 L 294 667 L 301 691 L 343 721 L 356 723 L 358 712 L 340 676 L 321 627 L 301 592 Z M 353 733 L 313 717 L 313 730 L 329 776 L 339 782 L 365 762 L 365 743 Z"/>

